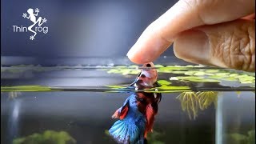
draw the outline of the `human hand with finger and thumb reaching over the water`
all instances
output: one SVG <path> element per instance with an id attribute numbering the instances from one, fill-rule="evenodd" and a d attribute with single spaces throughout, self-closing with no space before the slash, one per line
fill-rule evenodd
<path id="1" fill-rule="evenodd" d="M 255 0 L 180 0 L 127 53 L 153 62 L 169 46 L 187 62 L 255 71 Z"/>

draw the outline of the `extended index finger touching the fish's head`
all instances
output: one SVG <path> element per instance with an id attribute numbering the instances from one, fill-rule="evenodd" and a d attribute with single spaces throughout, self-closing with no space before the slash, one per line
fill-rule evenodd
<path id="1" fill-rule="evenodd" d="M 127 56 L 138 64 L 152 62 L 172 44 L 176 34 L 253 14 L 254 4 L 254 0 L 180 0 L 144 30 Z"/>

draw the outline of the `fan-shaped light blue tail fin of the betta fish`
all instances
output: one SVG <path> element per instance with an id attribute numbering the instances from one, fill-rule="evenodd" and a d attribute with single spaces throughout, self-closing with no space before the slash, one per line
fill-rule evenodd
<path id="1" fill-rule="evenodd" d="M 110 135 L 118 143 L 135 143 L 138 142 L 140 130 L 134 122 L 118 120 L 111 126 Z"/>

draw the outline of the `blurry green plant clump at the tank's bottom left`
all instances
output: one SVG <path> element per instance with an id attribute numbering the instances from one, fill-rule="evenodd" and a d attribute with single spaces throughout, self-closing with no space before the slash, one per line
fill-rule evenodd
<path id="1" fill-rule="evenodd" d="M 13 144 L 75 144 L 76 140 L 66 131 L 46 130 L 42 134 L 34 133 L 26 137 L 15 138 Z"/>

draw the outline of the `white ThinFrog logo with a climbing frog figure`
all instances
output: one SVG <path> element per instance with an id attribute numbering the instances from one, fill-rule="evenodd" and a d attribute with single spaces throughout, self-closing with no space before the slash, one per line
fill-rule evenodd
<path id="1" fill-rule="evenodd" d="M 23 32 L 30 32 L 30 40 L 34 40 L 35 36 L 38 33 L 47 34 L 48 27 L 42 26 L 47 22 L 46 18 L 38 17 L 39 9 L 36 8 L 35 10 L 29 8 L 26 10 L 27 14 L 22 14 L 23 18 L 28 19 L 32 24 L 30 26 L 13 26 L 14 33 L 23 33 Z"/>

